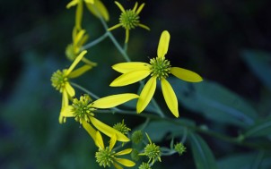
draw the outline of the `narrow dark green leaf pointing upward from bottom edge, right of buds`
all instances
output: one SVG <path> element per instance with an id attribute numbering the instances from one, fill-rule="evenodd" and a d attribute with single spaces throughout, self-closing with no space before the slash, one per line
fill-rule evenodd
<path id="1" fill-rule="evenodd" d="M 197 169 L 216 169 L 214 155 L 205 140 L 193 132 L 189 132 L 188 137 Z"/>

